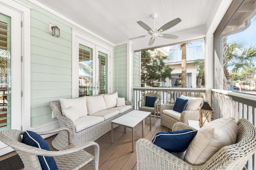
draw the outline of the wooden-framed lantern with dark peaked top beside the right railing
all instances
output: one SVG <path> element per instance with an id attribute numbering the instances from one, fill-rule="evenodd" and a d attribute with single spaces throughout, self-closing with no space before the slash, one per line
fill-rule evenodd
<path id="1" fill-rule="evenodd" d="M 199 107 L 199 125 L 204 126 L 205 123 L 209 123 L 214 120 L 214 110 L 210 107 L 207 101 Z"/>

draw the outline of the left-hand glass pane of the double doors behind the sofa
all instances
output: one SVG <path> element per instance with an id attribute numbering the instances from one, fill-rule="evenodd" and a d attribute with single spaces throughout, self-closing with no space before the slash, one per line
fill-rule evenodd
<path id="1" fill-rule="evenodd" d="M 79 44 L 79 97 L 92 95 L 92 48 Z"/>

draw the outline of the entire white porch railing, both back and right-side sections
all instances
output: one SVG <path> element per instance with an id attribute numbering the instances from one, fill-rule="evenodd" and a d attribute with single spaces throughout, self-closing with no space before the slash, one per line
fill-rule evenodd
<path id="1" fill-rule="evenodd" d="M 191 97 L 205 98 L 206 89 L 194 88 L 162 88 L 162 87 L 134 87 L 133 103 L 134 109 L 138 109 L 138 100 L 147 93 L 156 93 L 159 97 L 158 105 L 163 103 L 174 103 L 182 93 Z M 256 95 L 212 89 L 211 106 L 214 109 L 214 119 L 222 117 L 234 117 L 237 121 L 241 118 L 248 119 L 256 125 Z M 160 108 L 160 107 L 159 107 Z M 253 170 L 256 168 L 256 154 L 250 158 L 244 169 Z"/>

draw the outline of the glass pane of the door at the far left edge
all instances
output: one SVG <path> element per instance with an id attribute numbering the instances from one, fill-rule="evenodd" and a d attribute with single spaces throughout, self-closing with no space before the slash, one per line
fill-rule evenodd
<path id="1" fill-rule="evenodd" d="M 11 18 L 0 14 L 0 130 L 11 128 Z"/>

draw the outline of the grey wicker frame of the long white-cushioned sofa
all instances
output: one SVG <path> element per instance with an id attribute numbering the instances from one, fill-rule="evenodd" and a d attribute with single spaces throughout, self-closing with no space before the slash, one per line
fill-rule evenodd
<path id="1" fill-rule="evenodd" d="M 114 117 L 111 117 L 110 119 L 107 119 L 103 122 L 100 122 L 96 125 L 93 125 L 92 127 L 88 127 L 84 130 L 81 130 L 79 132 L 76 132 L 75 125 L 71 121 L 71 119 L 68 119 L 67 117 L 62 115 L 61 112 L 61 105 L 60 101 L 50 101 L 49 105 L 52 108 L 52 111 L 56 118 L 59 121 L 60 127 L 68 128 L 71 132 L 71 142 L 80 146 L 81 144 L 84 144 L 88 141 L 95 141 L 98 138 L 100 138 L 102 135 L 106 134 L 111 130 L 111 121 L 132 111 L 134 109 L 134 106 L 131 101 L 125 101 L 126 105 L 132 105 L 132 109 L 129 109 L 128 111 L 125 111 L 124 113 L 120 113 Z M 114 128 L 117 127 L 117 125 L 114 125 Z M 66 147 L 68 145 L 68 134 L 65 131 L 59 132 L 52 140 L 52 146 L 58 150 L 62 150 L 62 148 Z"/>

